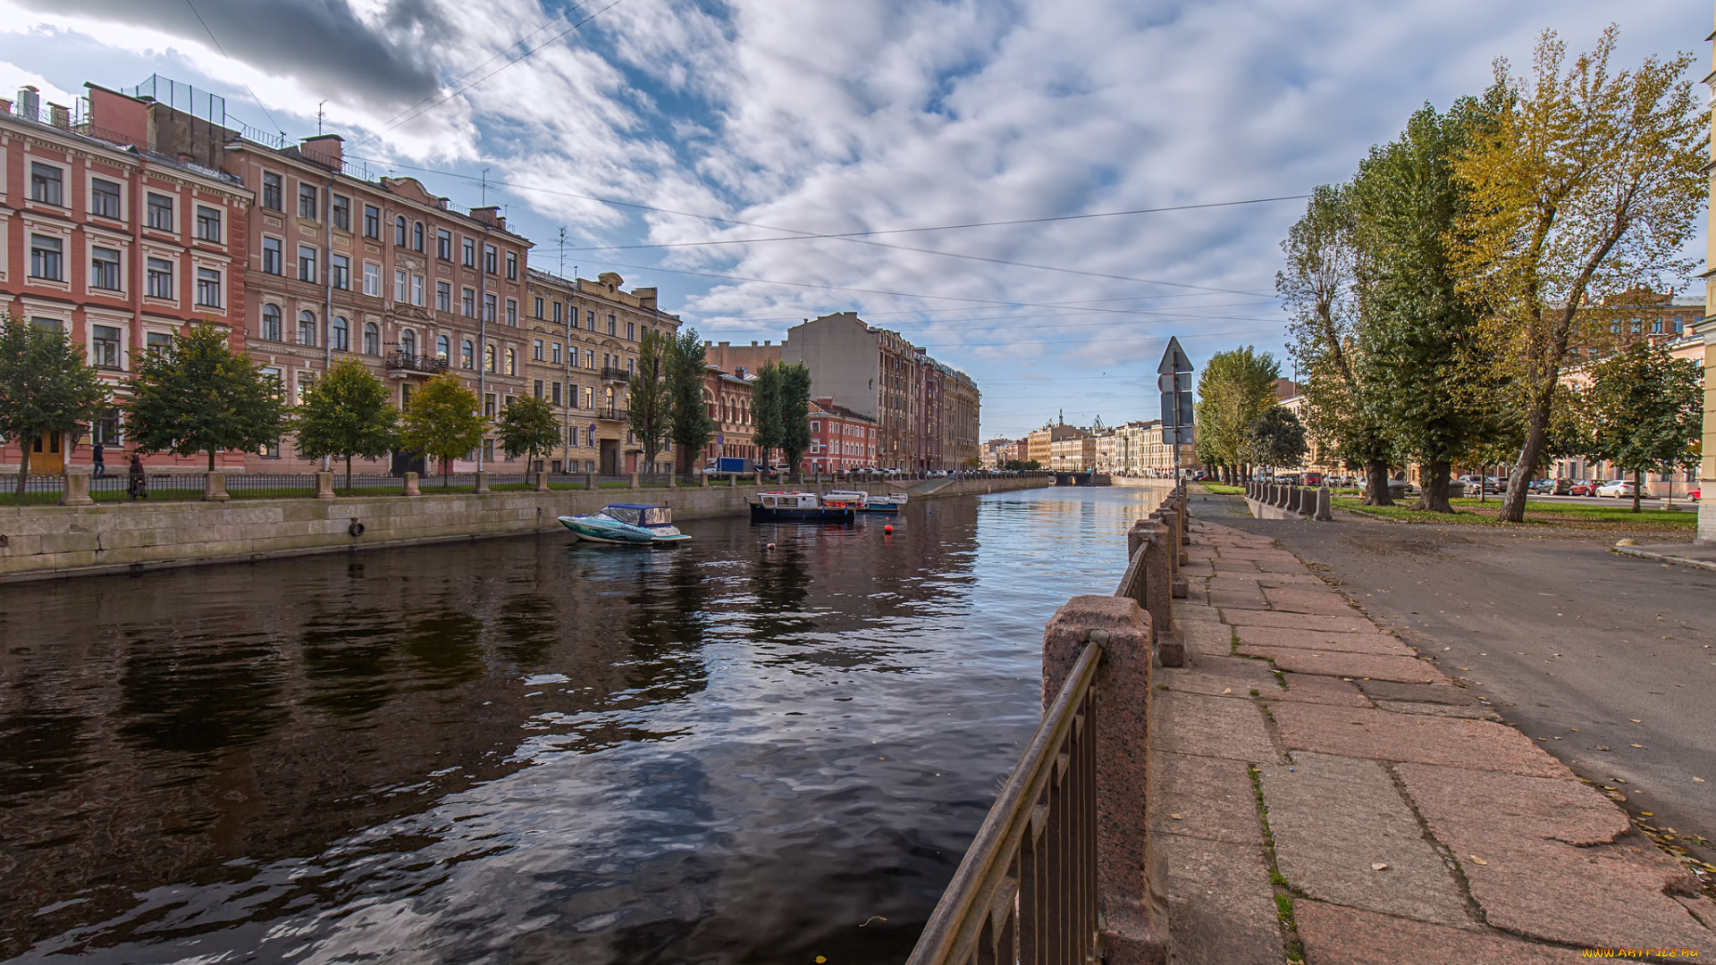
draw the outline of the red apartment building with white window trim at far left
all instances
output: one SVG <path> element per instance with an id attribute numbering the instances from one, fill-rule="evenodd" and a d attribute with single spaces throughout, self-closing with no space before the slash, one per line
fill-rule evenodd
<path id="1" fill-rule="evenodd" d="M 144 139 L 76 117 L 70 105 L 43 105 L 34 88 L 0 100 L 0 307 L 65 331 L 117 391 L 144 352 L 190 323 L 223 325 L 235 349 L 245 345 L 251 191 L 240 179 L 149 151 Z M 17 469 L 22 443 L 31 472 L 60 472 L 67 460 L 88 464 L 94 441 L 124 450 L 117 410 L 84 440 L 9 440 L 0 469 Z M 214 462 L 235 469 L 244 455 Z M 151 455 L 146 464 L 201 469 L 206 457 Z"/>

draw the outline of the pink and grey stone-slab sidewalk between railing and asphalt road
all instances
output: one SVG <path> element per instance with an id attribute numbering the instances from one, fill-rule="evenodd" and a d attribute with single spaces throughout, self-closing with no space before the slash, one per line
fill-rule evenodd
<path id="1" fill-rule="evenodd" d="M 1716 901 L 1603 793 L 1273 541 L 1193 522 L 1150 822 L 1174 962 L 1716 956 Z"/>

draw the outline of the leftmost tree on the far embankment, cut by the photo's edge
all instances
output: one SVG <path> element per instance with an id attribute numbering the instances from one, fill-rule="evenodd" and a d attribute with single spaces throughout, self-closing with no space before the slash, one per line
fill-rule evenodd
<path id="1" fill-rule="evenodd" d="M 31 441 L 77 433 L 101 417 L 110 395 L 63 331 L 0 314 L 0 436 L 17 443 L 17 495 L 29 479 Z"/>

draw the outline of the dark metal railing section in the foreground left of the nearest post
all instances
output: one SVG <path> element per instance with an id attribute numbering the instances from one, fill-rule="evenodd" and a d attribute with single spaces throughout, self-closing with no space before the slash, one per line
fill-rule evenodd
<path id="1" fill-rule="evenodd" d="M 1083 963 L 1097 955 L 1097 694 L 1086 644 L 966 848 L 908 965 Z"/>

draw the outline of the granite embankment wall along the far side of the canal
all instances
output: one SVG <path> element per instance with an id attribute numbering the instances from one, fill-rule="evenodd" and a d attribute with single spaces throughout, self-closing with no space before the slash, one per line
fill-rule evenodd
<path id="1" fill-rule="evenodd" d="M 1035 489 L 1043 482 L 963 479 L 913 498 Z M 666 503 L 674 520 L 738 515 L 748 512 L 746 500 L 757 491 L 755 486 L 681 486 L 479 496 L 429 489 L 422 496 L 3 507 L 0 582 L 535 532 L 558 529 L 554 517 L 592 513 L 623 501 Z M 362 532 L 353 536 L 359 527 Z"/>

